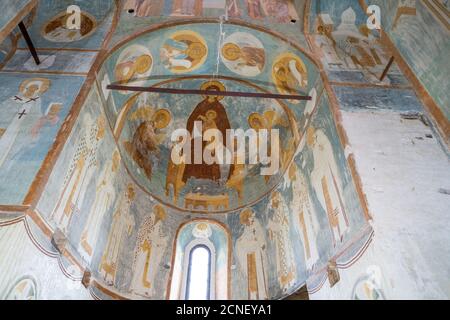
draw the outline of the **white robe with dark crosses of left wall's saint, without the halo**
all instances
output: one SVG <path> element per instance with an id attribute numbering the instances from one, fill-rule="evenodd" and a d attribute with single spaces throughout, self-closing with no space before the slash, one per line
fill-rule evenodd
<path id="1" fill-rule="evenodd" d="M 29 135 L 31 129 L 44 115 L 41 110 L 41 98 L 34 95 L 27 98 L 22 94 L 16 95 L 0 105 L 2 119 L 0 127 L 5 122 L 5 132 L 0 136 L 0 168 L 5 163 L 8 156 L 11 156 L 11 150 L 16 145 L 19 135 Z M 12 117 L 11 117 L 12 116 Z M 31 139 L 31 138 L 30 138 Z"/>

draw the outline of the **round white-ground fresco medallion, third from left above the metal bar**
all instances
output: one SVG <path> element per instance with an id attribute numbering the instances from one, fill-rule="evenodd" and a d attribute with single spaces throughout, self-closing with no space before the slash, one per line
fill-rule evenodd
<path id="1" fill-rule="evenodd" d="M 266 63 L 263 44 L 247 32 L 235 32 L 225 39 L 221 57 L 228 69 L 246 77 L 261 74 Z"/>

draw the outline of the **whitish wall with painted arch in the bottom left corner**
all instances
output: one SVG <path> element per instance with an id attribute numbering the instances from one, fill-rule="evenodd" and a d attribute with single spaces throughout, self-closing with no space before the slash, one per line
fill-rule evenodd
<path id="1" fill-rule="evenodd" d="M 64 261 L 33 221 L 21 213 L 0 217 L 2 300 L 91 299 L 81 284 L 81 270 Z"/>

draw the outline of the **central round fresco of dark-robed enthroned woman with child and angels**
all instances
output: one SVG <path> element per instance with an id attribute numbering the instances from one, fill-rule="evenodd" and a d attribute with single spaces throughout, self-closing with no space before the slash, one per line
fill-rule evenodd
<path id="1" fill-rule="evenodd" d="M 243 88 L 242 84 L 232 81 L 219 83 L 223 90 Z M 202 79 L 189 80 L 170 87 L 201 88 L 204 84 Z M 171 133 L 175 130 L 185 128 L 193 132 L 194 122 L 201 121 L 204 130 L 216 128 L 226 137 L 227 129 L 246 131 L 252 126 L 257 128 L 252 121 L 267 123 L 268 129 L 280 130 L 281 149 L 286 153 L 295 145 L 298 135 L 295 134 L 298 128 L 290 125 L 290 115 L 277 101 L 260 100 L 256 107 L 248 110 L 246 105 L 254 104 L 254 101 L 235 101 L 230 97 L 210 100 L 201 96 L 149 93 L 139 95 L 135 100 L 123 116 L 127 122 L 117 132 L 125 163 L 140 185 L 163 202 L 179 208 L 210 212 L 232 210 L 257 201 L 275 186 L 281 173 L 273 177 L 261 176 L 258 165 L 245 166 L 237 162 L 231 166 L 176 165 L 171 160 L 174 147 Z M 222 143 L 225 148 L 227 140 Z M 281 160 L 286 162 L 289 158 L 286 156 Z M 281 170 L 285 167 L 282 163 Z M 256 188 L 258 185 L 264 187 Z"/>

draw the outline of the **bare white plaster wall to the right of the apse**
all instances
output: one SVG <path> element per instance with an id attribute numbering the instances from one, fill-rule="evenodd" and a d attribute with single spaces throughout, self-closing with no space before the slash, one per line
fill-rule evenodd
<path id="1" fill-rule="evenodd" d="M 388 299 L 450 298 L 450 195 L 439 192 L 450 189 L 448 155 L 420 120 L 393 112 L 342 116 L 375 238 L 361 260 L 340 270 L 335 287 L 327 281 L 311 298 L 350 299 L 371 266 L 381 271 Z"/>

